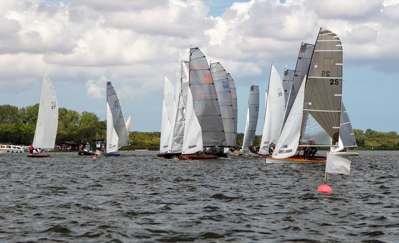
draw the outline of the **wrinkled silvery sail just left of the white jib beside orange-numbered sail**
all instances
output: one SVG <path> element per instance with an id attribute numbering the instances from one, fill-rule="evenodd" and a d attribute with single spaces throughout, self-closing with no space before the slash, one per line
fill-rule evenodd
<path id="1" fill-rule="evenodd" d="M 169 142 L 170 150 L 169 153 L 182 153 L 183 139 L 184 139 L 184 127 L 186 119 L 186 102 L 188 92 L 188 62 L 182 61 L 181 67 L 181 80 L 177 85 L 179 89 L 175 89 L 175 100 L 177 101 L 176 112 L 174 113 L 175 118 L 173 119 L 173 132 Z"/>

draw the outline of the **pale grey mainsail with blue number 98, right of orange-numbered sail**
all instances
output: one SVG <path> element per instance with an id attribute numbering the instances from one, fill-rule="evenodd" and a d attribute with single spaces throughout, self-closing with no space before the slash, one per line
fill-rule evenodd
<path id="1" fill-rule="evenodd" d="M 220 63 L 210 64 L 210 74 L 216 90 L 221 119 L 223 122 L 226 146 L 235 146 L 235 122 L 233 114 L 232 96 L 227 73 Z"/>

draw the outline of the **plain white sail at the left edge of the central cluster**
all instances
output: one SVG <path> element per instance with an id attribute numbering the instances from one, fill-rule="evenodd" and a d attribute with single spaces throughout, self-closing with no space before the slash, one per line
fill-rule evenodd
<path id="1" fill-rule="evenodd" d="M 161 143 L 160 153 L 170 150 L 169 144 L 172 137 L 173 115 L 176 114 L 175 105 L 175 86 L 165 77 L 164 79 L 164 101 L 162 107 Z"/>

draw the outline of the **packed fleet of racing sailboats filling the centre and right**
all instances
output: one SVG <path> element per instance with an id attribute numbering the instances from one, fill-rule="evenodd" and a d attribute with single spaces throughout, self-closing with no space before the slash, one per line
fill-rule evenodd
<path id="1" fill-rule="evenodd" d="M 335 155 L 358 155 L 346 151 L 356 147 L 356 140 L 342 103 L 342 55 L 339 37 L 321 28 L 314 45 L 301 43 L 295 70 L 285 69 L 281 79 L 271 65 L 256 148 L 258 86 L 250 87 L 244 138 L 237 146 L 234 81 L 220 63 L 208 64 L 199 48 L 191 48 L 189 61 L 182 61 L 180 81 L 174 84 L 165 77 L 158 156 L 188 160 L 252 154 L 266 162 L 326 162 L 317 155 L 322 147 Z"/>

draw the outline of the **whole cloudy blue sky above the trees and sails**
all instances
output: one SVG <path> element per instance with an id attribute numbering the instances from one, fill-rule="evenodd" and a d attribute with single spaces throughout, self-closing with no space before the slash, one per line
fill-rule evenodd
<path id="1" fill-rule="evenodd" d="M 399 132 L 398 0 L 1 0 L 0 105 L 38 103 L 45 72 L 60 107 L 105 119 L 109 80 L 131 131 L 160 131 L 164 75 L 179 80 L 193 46 L 232 75 L 243 132 L 250 85 L 264 107 L 270 65 L 280 76 L 295 69 L 301 42 L 314 44 L 320 27 L 342 40 L 353 127 Z"/>

